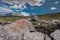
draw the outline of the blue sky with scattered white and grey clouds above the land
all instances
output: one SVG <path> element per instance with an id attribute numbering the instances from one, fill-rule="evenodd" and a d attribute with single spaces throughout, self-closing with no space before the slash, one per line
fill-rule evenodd
<path id="1" fill-rule="evenodd" d="M 60 12 L 60 0 L 0 0 L 0 14 L 50 14 Z"/>

